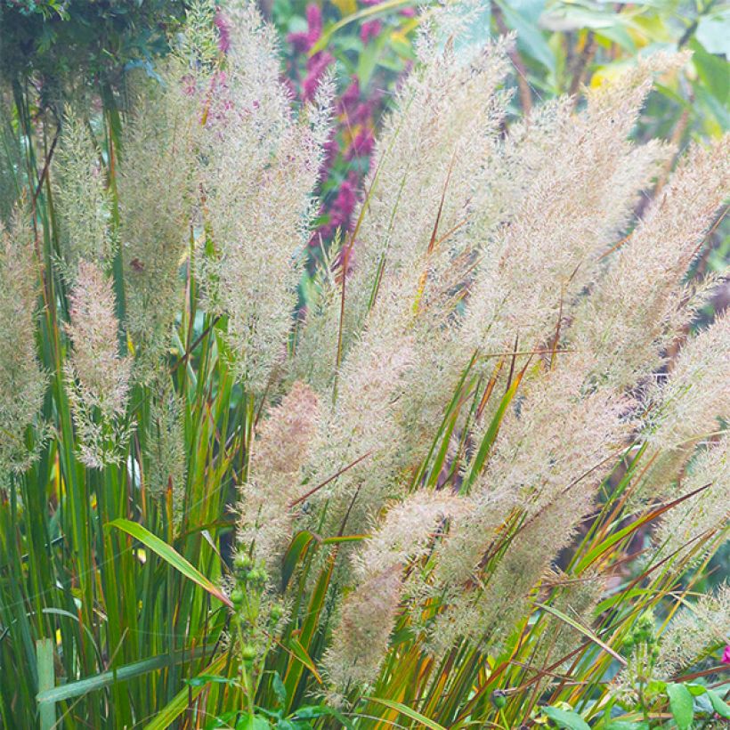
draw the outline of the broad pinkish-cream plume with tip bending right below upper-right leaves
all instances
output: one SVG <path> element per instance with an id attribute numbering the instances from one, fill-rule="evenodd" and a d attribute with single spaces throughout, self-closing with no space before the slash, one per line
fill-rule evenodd
<path id="1" fill-rule="evenodd" d="M 653 69 L 676 63 L 664 56 L 640 63 L 589 93 L 578 116 L 569 104 L 552 105 L 538 116 L 537 149 L 531 131 L 518 129 L 515 142 L 508 142 L 515 148 L 512 164 L 521 166 L 524 156 L 529 175 L 513 215 L 491 235 L 469 289 L 460 333 L 469 349 L 500 352 L 515 334 L 537 347 L 555 331 L 667 157 L 667 148 L 654 143 L 635 150 L 628 135 Z"/>

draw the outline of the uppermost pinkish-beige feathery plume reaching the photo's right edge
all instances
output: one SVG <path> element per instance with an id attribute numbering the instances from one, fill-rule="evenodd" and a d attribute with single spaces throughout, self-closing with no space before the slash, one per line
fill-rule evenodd
<path id="1" fill-rule="evenodd" d="M 661 366 L 667 346 L 692 317 L 682 281 L 729 189 L 730 134 L 707 149 L 694 144 L 612 254 L 572 328 L 575 346 L 596 357 L 596 377 L 633 387 Z"/>

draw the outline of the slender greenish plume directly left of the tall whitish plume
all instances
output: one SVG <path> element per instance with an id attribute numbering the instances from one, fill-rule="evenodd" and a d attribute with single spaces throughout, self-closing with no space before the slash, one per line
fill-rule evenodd
<path id="1" fill-rule="evenodd" d="M 126 284 L 126 332 L 134 346 L 134 377 L 149 383 L 168 352 L 189 239 L 191 172 L 199 133 L 199 100 L 186 93 L 190 69 L 178 58 L 163 83 L 145 86 L 125 126 L 118 194 Z"/>

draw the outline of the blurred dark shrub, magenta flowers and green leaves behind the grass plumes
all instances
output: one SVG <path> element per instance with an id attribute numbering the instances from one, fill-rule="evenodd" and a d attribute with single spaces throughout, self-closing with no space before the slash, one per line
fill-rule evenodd
<path id="1" fill-rule="evenodd" d="M 374 134 L 398 79 L 410 68 L 418 27 L 411 0 L 259 0 L 280 31 L 292 94 L 312 97 L 337 79 L 337 121 L 322 176 L 323 205 L 312 236 L 312 266 L 353 228 Z M 0 0 L 0 73 L 37 116 L 61 117 L 69 94 L 91 93 L 107 110 L 124 106 L 126 71 L 154 74 L 186 11 L 185 0 Z M 580 85 L 597 85 L 637 54 L 686 48 L 684 74 L 659 85 L 637 137 L 661 136 L 682 149 L 691 138 L 730 127 L 730 4 L 719 0 L 491 0 L 479 37 L 515 31 L 515 115 Z M 661 183 L 661 181 L 660 181 Z M 726 239 L 726 236 L 721 237 Z M 727 245 L 708 262 L 726 262 Z"/>

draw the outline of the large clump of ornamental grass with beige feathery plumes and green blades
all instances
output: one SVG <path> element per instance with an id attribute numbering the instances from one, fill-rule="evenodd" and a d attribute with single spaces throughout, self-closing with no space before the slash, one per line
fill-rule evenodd
<path id="1" fill-rule="evenodd" d="M 726 712 L 683 682 L 724 636 L 726 589 L 693 594 L 726 540 L 730 319 L 668 353 L 715 283 L 686 276 L 730 138 L 635 220 L 676 150 L 631 129 L 685 55 L 513 120 L 478 11 L 424 12 L 302 317 L 328 84 L 291 109 L 252 6 L 219 53 L 199 4 L 127 117 L 70 110 L 58 156 L 16 97 L 5 726 Z"/>

